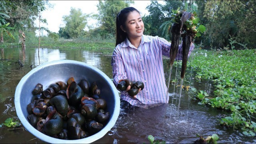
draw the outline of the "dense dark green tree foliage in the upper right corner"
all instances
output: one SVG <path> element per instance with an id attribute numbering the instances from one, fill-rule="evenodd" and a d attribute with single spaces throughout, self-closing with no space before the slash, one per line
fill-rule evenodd
<path id="1" fill-rule="evenodd" d="M 224 47 L 229 43 L 229 35 L 238 43 L 255 46 L 256 36 L 256 2 L 242 1 L 196 1 L 198 9 L 206 26 L 206 36 L 203 40 L 207 46 Z"/>

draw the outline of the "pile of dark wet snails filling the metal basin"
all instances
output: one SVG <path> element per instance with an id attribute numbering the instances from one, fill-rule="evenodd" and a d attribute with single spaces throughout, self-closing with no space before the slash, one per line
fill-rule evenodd
<path id="1" fill-rule="evenodd" d="M 106 100 L 100 98 L 96 82 L 85 79 L 50 84 L 43 90 L 38 83 L 32 91 L 27 116 L 38 131 L 59 139 L 76 140 L 96 134 L 108 122 Z"/>

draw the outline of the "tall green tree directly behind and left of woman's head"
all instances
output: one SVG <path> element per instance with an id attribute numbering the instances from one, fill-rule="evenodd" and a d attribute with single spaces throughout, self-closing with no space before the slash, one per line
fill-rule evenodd
<path id="1" fill-rule="evenodd" d="M 98 8 L 98 21 L 100 29 L 102 30 L 101 36 L 108 34 L 114 36 L 116 32 L 116 15 L 120 10 L 134 4 L 132 0 L 99 0 Z"/>

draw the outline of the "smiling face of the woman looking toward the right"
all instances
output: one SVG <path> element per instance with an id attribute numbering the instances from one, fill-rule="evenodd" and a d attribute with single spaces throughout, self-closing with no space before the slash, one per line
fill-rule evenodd
<path id="1" fill-rule="evenodd" d="M 136 10 L 128 14 L 125 26 L 125 29 L 121 28 L 124 32 L 127 32 L 128 38 L 138 38 L 143 35 L 144 23 L 142 22 L 140 14 Z"/>

